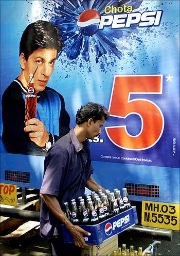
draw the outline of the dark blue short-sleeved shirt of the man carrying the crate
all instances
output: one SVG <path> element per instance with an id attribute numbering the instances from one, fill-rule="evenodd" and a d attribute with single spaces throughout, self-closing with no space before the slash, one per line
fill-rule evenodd
<path id="1" fill-rule="evenodd" d="M 47 152 L 44 162 L 44 179 L 40 193 L 56 196 L 63 210 L 63 203 L 84 195 L 85 185 L 93 167 L 88 141 L 83 148 L 74 129 L 59 139 Z M 60 235 L 60 221 L 41 202 L 40 234 L 51 238 Z"/>

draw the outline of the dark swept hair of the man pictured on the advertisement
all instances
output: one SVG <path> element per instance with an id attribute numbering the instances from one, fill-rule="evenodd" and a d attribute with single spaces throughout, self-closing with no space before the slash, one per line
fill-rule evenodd
<path id="1" fill-rule="evenodd" d="M 29 24 L 23 32 L 20 41 L 20 55 L 25 59 L 38 49 L 55 49 L 57 55 L 61 51 L 63 42 L 58 28 L 48 21 L 37 21 Z"/>

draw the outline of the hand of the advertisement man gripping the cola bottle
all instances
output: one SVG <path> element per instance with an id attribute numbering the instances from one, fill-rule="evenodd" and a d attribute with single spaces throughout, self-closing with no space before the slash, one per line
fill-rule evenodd
<path id="1" fill-rule="evenodd" d="M 25 132 L 29 132 L 29 138 L 39 147 L 44 147 L 48 141 L 48 132 L 44 126 L 44 123 L 37 118 L 32 118 L 26 121 L 24 127 Z"/>

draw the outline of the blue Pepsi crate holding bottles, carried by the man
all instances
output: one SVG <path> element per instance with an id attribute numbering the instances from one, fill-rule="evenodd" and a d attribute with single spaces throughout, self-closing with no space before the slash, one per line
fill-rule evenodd
<path id="1" fill-rule="evenodd" d="M 138 223 L 136 206 L 119 213 L 110 219 L 96 225 L 79 225 L 82 229 L 91 233 L 91 236 L 84 236 L 89 245 L 100 245 L 110 237 L 117 235 L 129 227 Z M 64 225 L 61 225 L 65 243 L 74 243 L 74 238 Z"/>

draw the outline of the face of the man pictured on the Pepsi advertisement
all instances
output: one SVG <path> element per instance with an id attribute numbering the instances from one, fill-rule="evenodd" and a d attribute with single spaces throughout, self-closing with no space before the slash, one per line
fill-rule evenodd
<path id="1" fill-rule="evenodd" d="M 53 72 L 55 61 L 57 57 L 57 50 L 53 49 L 38 49 L 35 50 L 26 60 L 24 54 L 20 55 L 21 67 L 23 70 L 20 79 L 24 86 L 29 83 L 29 74 L 34 73 L 34 88 L 38 93 L 43 91 L 49 81 Z"/>

